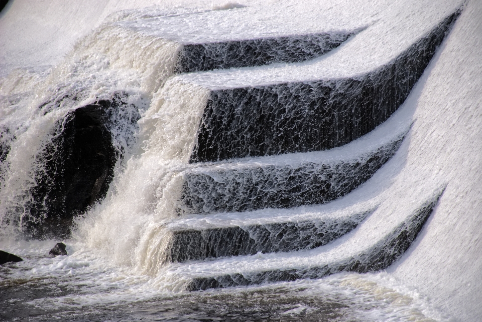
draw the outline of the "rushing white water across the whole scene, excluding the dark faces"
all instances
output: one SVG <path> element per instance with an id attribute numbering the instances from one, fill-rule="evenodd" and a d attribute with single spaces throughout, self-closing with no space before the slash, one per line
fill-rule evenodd
<path id="1" fill-rule="evenodd" d="M 128 6 L 121 1 L 105 1 L 99 7 L 92 4 L 96 18 L 90 18 L 89 28 L 82 25 L 78 33 L 70 36 L 65 32 L 67 29 L 61 29 L 59 35 L 63 40 L 51 43 L 51 52 L 37 44 L 44 41 L 42 30 L 38 31 L 38 40 L 31 40 L 31 47 L 25 35 L 16 42 L 0 32 L 6 44 L 0 47 L 3 59 L 0 61 L 3 68 L 0 249 L 24 259 L 0 266 L 0 320 L 442 322 L 476 321 L 482 317 L 478 295 L 482 292 L 476 282 L 482 277 L 479 273 L 482 261 L 478 259 L 482 257 L 479 256 L 482 241 L 477 234 L 482 220 L 477 216 L 482 209 L 481 78 L 474 72 L 480 70 L 481 62 L 482 6 L 476 1 L 465 3 L 453 31 L 405 103 L 366 136 L 312 154 L 221 160 L 207 162 L 203 164 L 205 168 L 191 162 L 190 154 L 198 142 L 197 127 L 203 122 L 203 110 L 214 91 L 243 85 L 255 87 L 259 93 L 271 86 L 276 92 L 273 84 L 278 83 L 305 84 L 305 81 L 344 77 L 357 82 L 366 75 L 377 77 L 381 72 L 372 73 L 373 70 L 378 71 L 378 67 L 401 57 L 414 41 L 460 8 L 461 2 L 447 0 L 437 6 L 429 1 L 419 4 L 407 0 L 406 4 L 394 5 L 379 0 L 353 5 L 340 0 L 335 5 L 247 1 L 209 6 L 186 2 L 179 7 L 160 1 L 158 7 L 144 8 L 142 3 Z M 50 13 L 70 26 L 65 17 L 72 14 L 63 6 L 39 7 L 39 11 L 43 10 L 43 15 Z M 20 1 L 9 4 L 0 16 L 1 26 L 15 21 L 26 8 Z M 79 24 L 87 24 L 84 9 L 77 10 Z M 307 18 L 300 22 L 298 17 Z M 231 25 L 239 28 L 226 34 Z M 192 26 L 200 29 L 193 30 Z M 52 36 L 55 32 L 51 29 L 45 27 L 43 32 Z M 319 36 L 326 31 L 332 36 Z M 30 33 L 35 35 L 33 30 Z M 328 46 L 326 39 L 334 45 L 323 47 L 316 54 L 320 57 L 306 62 L 305 58 L 301 62 L 290 61 L 285 53 L 286 62 L 268 60 L 273 65 L 235 65 L 235 69 L 175 75 L 179 72 L 176 57 L 186 39 L 226 41 L 244 35 L 271 37 L 273 43 L 273 33 L 284 37 L 277 43 L 280 48 L 290 44 L 293 33 L 316 34 L 313 38 L 322 39 L 322 46 Z M 161 38 L 159 34 L 169 37 Z M 312 46 L 310 41 L 306 44 Z M 267 46 L 271 46 L 270 42 Z M 297 42 L 299 39 L 294 41 Z M 24 50 L 16 51 L 16 44 Z M 35 44 L 38 60 L 33 58 Z M 237 50 L 243 48 L 240 45 Z M 211 54 L 219 55 L 216 50 L 214 45 L 209 48 Z M 9 56 L 12 58 L 8 59 Z M 301 91 L 294 85 L 286 88 L 291 94 L 298 95 L 297 91 Z M 349 93 L 345 88 L 340 91 Z M 287 95 L 282 92 L 281 96 Z M 116 99 L 122 101 L 121 107 L 107 116 L 116 156 L 112 181 L 101 202 L 92 203 L 75 217 L 72 234 L 62 240 L 69 255 L 51 257 L 48 252 L 58 238 L 32 237 L 38 237 L 35 227 L 39 219 L 49 215 L 44 211 L 48 209 L 44 207 L 48 198 L 40 201 L 37 198 L 41 193 L 48 196 L 48 192 L 38 192 L 36 187 L 53 180 L 51 160 L 56 151 L 52 142 L 59 141 L 62 131 L 68 128 L 73 111 Z M 286 178 L 292 178 L 293 172 L 298 171 L 298 164 L 318 169 L 322 167 L 317 163 L 319 160 L 325 163 L 329 160 L 331 164 L 363 163 L 373 159 L 369 152 L 378 151 L 380 146 L 401 136 L 403 141 L 397 141 L 390 155 L 370 175 L 365 173 L 366 178 L 361 181 L 368 180 L 365 184 L 351 193 L 348 193 L 351 190 L 339 193 L 337 197 L 346 196 L 324 205 L 254 211 L 251 210 L 256 207 L 247 206 L 250 212 L 208 216 L 192 215 L 191 205 L 180 198 L 186 189 L 186 178 L 200 173 L 213 178 L 213 183 L 208 181 L 208 187 L 199 192 L 206 200 L 213 193 L 209 189 L 224 189 L 212 188 L 222 183 L 237 187 L 231 199 L 245 202 L 236 199 L 236 191 L 253 183 L 239 175 L 239 169 L 255 173 L 250 175 L 258 176 L 260 182 L 268 177 L 288 181 Z M 262 170 L 256 170 L 258 173 L 250 169 Z M 266 187 L 261 190 L 265 189 L 263 192 L 268 196 L 278 191 L 270 190 L 269 184 Z M 327 258 L 357 256 L 442 190 L 439 203 L 419 237 L 386 270 L 363 274 L 341 272 L 321 279 L 225 289 L 185 290 L 192 276 L 221 274 L 233 267 L 249 276 L 251 271 L 272 267 L 311 267 Z M 229 208 L 228 202 L 223 202 Z M 279 204 L 283 205 L 281 201 Z M 263 203 L 260 207 L 266 206 Z M 238 206 L 228 210 L 236 209 Z M 201 204 L 194 212 L 217 211 Z M 277 222 L 316 222 L 325 220 L 329 214 L 354 212 L 364 213 L 368 218 L 361 224 L 357 222 L 359 226 L 350 228 L 339 240 L 311 250 L 258 252 L 184 263 L 163 259 L 169 246 L 167 229 L 173 225 L 195 229 L 196 225 L 227 223 L 250 232 L 249 227 L 269 226 L 273 218 Z"/>

